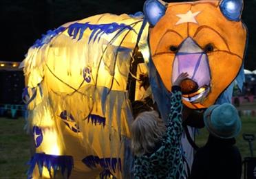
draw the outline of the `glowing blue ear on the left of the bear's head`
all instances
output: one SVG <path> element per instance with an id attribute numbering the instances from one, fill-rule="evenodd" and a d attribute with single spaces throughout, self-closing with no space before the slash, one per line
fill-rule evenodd
<path id="1" fill-rule="evenodd" d="M 143 10 L 146 20 L 151 26 L 155 26 L 162 16 L 164 16 L 166 6 L 159 0 L 147 0 L 144 3 Z"/>

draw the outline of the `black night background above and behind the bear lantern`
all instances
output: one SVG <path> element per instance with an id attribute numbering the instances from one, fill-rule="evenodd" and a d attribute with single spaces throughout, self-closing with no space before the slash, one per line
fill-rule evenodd
<path id="1" fill-rule="evenodd" d="M 22 61 L 28 48 L 48 29 L 105 12 L 134 14 L 142 11 L 144 1 L 1 0 L 0 61 Z M 256 0 L 244 1 L 242 19 L 246 23 L 249 33 L 245 68 L 250 70 L 256 69 L 255 12 Z"/>

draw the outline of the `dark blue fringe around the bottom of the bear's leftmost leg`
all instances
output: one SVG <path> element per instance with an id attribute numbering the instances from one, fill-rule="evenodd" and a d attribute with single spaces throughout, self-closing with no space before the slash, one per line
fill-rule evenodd
<path id="1" fill-rule="evenodd" d="M 33 170 L 36 164 L 39 167 L 39 174 L 42 176 L 43 166 L 49 171 L 50 177 L 52 178 L 51 169 L 54 171 L 54 177 L 56 171 L 61 170 L 61 174 L 64 175 L 64 172 L 67 170 L 67 177 L 70 177 L 72 168 L 74 167 L 74 160 L 72 156 L 55 156 L 47 155 L 44 153 L 36 153 L 32 156 L 30 162 L 30 169 L 28 169 L 28 178 L 32 178 Z"/>

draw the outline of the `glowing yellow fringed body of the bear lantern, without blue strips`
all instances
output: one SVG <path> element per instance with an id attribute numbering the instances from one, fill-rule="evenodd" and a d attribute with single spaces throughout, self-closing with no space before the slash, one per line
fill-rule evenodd
<path id="1" fill-rule="evenodd" d="M 85 30 L 81 40 L 70 38 L 65 30 L 41 49 L 31 48 L 23 62 L 23 67 L 27 86 L 36 88 L 38 92 L 28 106 L 31 111 L 28 129 L 40 126 L 43 130 L 43 143 L 36 148 L 36 153 L 73 156 L 75 169 L 71 178 L 78 177 L 81 172 L 84 178 L 88 178 L 97 176 L 102 169 L 92 171 L 86 167 L 81 161 L 85 156 L 123 159 L 124 137 L 129 138 L 129 121 L 132 120 L 131 113 L 127 113 L 131 111 L 126 90 L 129 60 L 132 49 L 136 46 L 142 19 L 133 19 L 126 14 L 121 16 L 102 14 L 77 22 L 125 23 L 131 24 L 134 30 L 123 30 L 112 42 L 111 39 L 116 33 L 103 34 L 99 42 L 96 40 L 95 43 L 88 43 L 92 34 L 89 29 Z M 133 23 L 136 24 L 132 25 Z M 109 42 L 111 43 L 107 45 Z M 116 66 L 107 69 L 106 65 L 114 63 L 113 56 L 116 55 L 114 49 L 118 46 L 131 50 L 118 52 L 120 56 L 117 56 Z M 102 60 L 100 60 L 101 56 L 103 56 Z M 91 72 L 90 82 L 85 82 L 83 76 L 86 67 L 89 67 Z M 114 73 L 109 73 L 109 70 Z M 114 104 L 105 105 L 105 114 L 103 114 L 99 88 L 122 93 L 122 99 L 116 98 Z M 42 91 L 42 95 L 39 91 Z M 29 92 L 32 95 L 32 90 Z M 106 102 L 109 102 L 108 97 Z M 73 132 L 63 123 L 60 117 L 63 110 L 72 114 L 81 132 Z M 110 110 L 113 111 L 111 116 L 108 115 Z M 89 114 L 105 117 L 105 126 L 88 122 Z M 45 171 L 47 170 L 43 170 L 43 176 Z M 120 171 L 111 172 L 121 178 Z"/>

